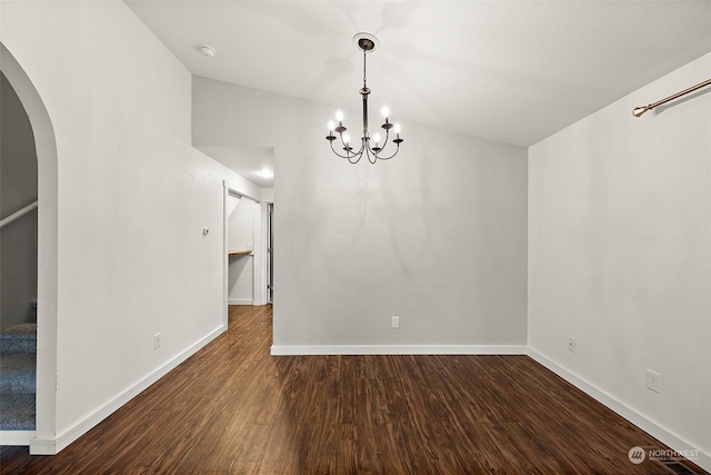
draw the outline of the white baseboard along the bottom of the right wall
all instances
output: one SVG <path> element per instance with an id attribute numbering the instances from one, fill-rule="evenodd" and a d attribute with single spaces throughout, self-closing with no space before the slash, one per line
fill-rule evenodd
<path id="1" fill-rule="evenodd" d="M 699 451 L 697 447 L 683 441 L 681 437 L 677 436 L 675 434 L 672 434 L 671 432 L 667 431 L 664 427 L 660 426 L 653 420 L 650 420 L 648 417 L 641 415 L 637 410 L 625 406 L 623 403 L 610 396 L 608 393 L 599 389 L 598 387 L 580 378 L 575 374 L 563 368 L 559 364 L 552 362 L 551 359 L 548 359 L 545 356 L 541 355 L 534 349 L 528 348 L 528 355 L 531 358 L 535 359 L 541 365 L 543 365 L 544 367 L 547 367 L 548 369 L 550 369 L 551 372 L 555 373 L 561 378 L 565 379 L 568 383 L 575 386 L 578 389 L 582 390 L 583 393 L 588 394 L 599 403 L 609 407 L 610 409 L 612 409 L 620 416 L 624 417 L 625 419 L 628 419 L 629 422 L 631 422 L 632 424 L 634 424 L 635 426 L 638 426 L 639 428 L 641 428 L 642 431 L 651 435 L 652 437 L 661 441 L 663 444 L 668 445 L 672 449 L 677 452 L 698 451 L 697 459 L 692 459 L 691 462 L 699 465 L 704 471 L 711 472 L 710 454 L 705 454 L 702 451 Z"/>

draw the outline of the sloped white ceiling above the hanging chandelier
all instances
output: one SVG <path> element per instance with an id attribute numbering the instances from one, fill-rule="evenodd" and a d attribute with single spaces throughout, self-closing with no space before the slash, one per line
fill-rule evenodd
<path id="1" fill-rule="evenodd" d="M 334 109 L 359 103 L 352 37 L 373 33 L 375 110 L 523 147 L 711 51 L 709 0 L 127 3 L 194 75 Z"/>

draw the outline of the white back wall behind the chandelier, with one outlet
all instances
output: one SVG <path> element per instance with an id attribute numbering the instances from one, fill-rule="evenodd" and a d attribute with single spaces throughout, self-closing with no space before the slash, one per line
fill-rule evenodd
<path id="1" fill-rule="evenodd" d="M 333 110 L 193 79 L 196 146 L 274 148 L 272 350 L 521 352 L 525 150 L 405 123 L 399 156 L 351 166 Z"/>

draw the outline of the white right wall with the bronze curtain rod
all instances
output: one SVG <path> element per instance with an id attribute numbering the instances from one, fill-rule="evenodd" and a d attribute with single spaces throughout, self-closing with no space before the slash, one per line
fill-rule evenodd
<path id="1" fill-rule="evenodd" d="M 711 469 L 711 55 L 529 150 L 529 345 Z M 577 352 L 567 350 L 567 337 Z M 661 394 L 645 370 L 661 374 Z M 627 448 L 625 448 L 627 449 Z"/>

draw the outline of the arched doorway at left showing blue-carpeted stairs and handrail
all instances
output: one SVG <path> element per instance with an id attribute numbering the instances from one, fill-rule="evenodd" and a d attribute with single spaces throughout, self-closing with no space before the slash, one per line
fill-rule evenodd
<path id="1" fill-rule="evenodd" d="M 38 161 L 30 118 L 0 71 L 0 441 L 36 429 Z"/>

